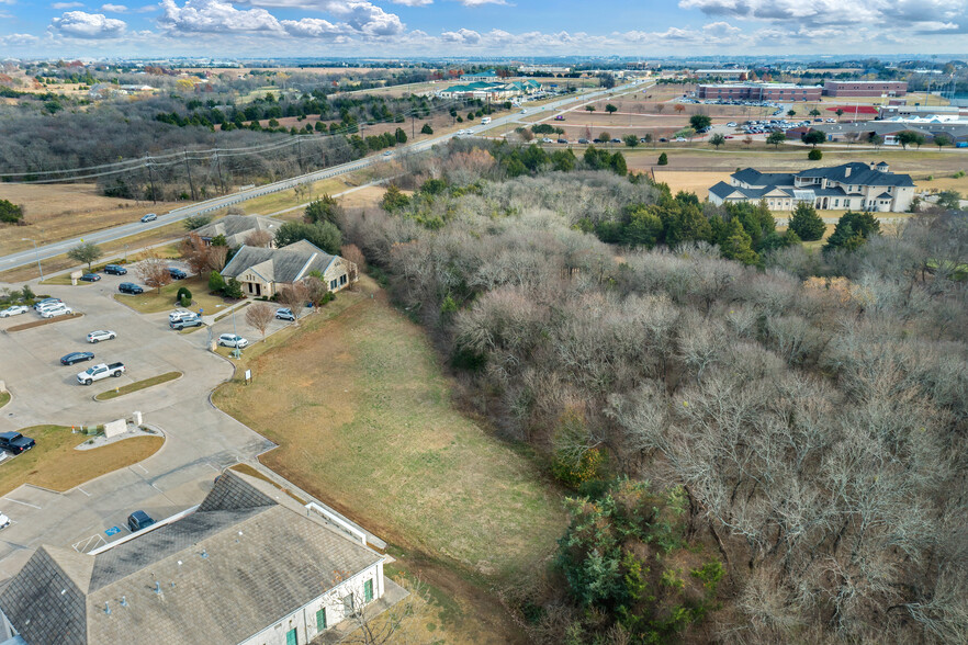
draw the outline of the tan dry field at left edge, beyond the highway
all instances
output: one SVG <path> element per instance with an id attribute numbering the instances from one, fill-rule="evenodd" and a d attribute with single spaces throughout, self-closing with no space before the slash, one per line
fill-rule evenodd
<path id="1" fill-rule="evenodd" d="M 94 184 L 11 184 L 0 183 L 0 200 L 24 206 L 27 226 L 0 225 L 0 254 L 32 248 L 22 238 L 37 245 L 69 239 L 136 222 L 146 213 L 167 213 L 183 203 L 136 202 L 98 194 Z"/>

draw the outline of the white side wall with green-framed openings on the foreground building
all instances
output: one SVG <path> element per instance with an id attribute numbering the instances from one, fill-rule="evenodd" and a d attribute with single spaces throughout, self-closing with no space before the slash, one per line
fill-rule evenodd
<path id="1" fill-rule="evenodd" d="M 299 645 L 309 643 L 320 633 L 316 629 L 316 612 L 324 607 L 326 608 L 327 630 L 342 622 L 346 619 L 342 606 L 344 597 L 352 595 L 358 603 L 357 608 L 359 608 L 359 603 L 362 603 L 363 600 L 363 586 L 367 580 L 373 580 L 373 600 L 382 598 L 384 592 L 382 559 L 258 634 L 243 641 L 239 645 L 286 645 L 285 635 L 293 629 L 296 631 Z"/>

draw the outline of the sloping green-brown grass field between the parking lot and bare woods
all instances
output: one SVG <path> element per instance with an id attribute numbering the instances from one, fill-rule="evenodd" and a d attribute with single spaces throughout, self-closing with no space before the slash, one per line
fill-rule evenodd
<path id="1" fill-rule="evenodd" d="M 526 454 L 453 408 L 421 329 L 363 282 L 319 319 L 246 350 L 254 383 L 234 380 L 213 400 L 280 445 L 266 465 L 387 539 L 408 570 L 419 563 L 432 584 L 453 586 L 462 621 L 493 623 L 485 642 L 515 641 L 493 597 L 466 579 L 499 584 L 543 566 L 564 529 L 560 496 Z"/>

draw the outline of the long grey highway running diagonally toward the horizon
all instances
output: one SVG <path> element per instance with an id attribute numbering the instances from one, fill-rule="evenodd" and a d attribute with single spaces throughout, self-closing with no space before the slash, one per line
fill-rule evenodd
<path id="1" fill-rule="evenodd" d="M 603 97 L 606 94 L 611 94 L 616 92 L 620 92 L 630 88 L 637 87 L 638 83 L 629 83 L 620 87 L 612 88 L 611 90 L 597 90 L 594 92 L 585 92 L 579 94 L 572 94 L 564 99 L 560 99 L 552 103 L 548 103 L 545 105 L 539 105 L 534 108 L 527 108 L 528 114 L 540 113 L 549 110 L 559 110 L 565 105 L 575 102 L 587 102 L 598 97 Z M 481 133 L 486 129 L 500 127 L 502 125 L 506 125 L 508 123 L 515 123 L 520 117 L 519 114 L 509 114 L 505 116 L 500 116 L 492 121 L 487 125 L 475 125 L 473 129 L 476 133 Z M 76 237 L 71 239 L 66 239 L 57 242 L 52 242 L 49 245 L 44 245 L 38 247 L 37 249 L 27 249 L 24 251 L 19 251 L 15 253 L 11 253 L 9 256 L 0 257 L 0 271 L 7 271 L 9 269 L 16 269 L 18 267 L 24 267 L 32 262 L 36 262 L 40 258 L 41 260 L 46 260 L 48 258 L 53 258 L 56 256 L 60 256 L 67 252 L 71 247 L 77 246 L 81 239 L 88 242 L 93 244 L 104 244 L 114 240 L 119 240 L 135 234 L 144 233 L 147 230 L 151 230 L 154 228 L 159 228 L 161 226 L 167 226 L 175 222 L 181 222 L 182 219 L 190 217 L 192 215 L 199 215 L 203 213 L 210 213 L 212 211 L 218 211 L 221 208 L 225 208 L 226 206 L 230 206 L 233 204 L 238 204 L 240 202 L 245 202 L 248 200 L 252 200 L 256 197 L 260 197 L 262 195 L 267 195 L 270 193 L 277 193 L 279 191 L 289 190 L 295 185 L 301 183 L 319 181 L 322 179 L 328 179 L 330 177 L 337 177 L 339 174 L 346 174 L 347 172 L 352 172 L 354 170 L 360 170 L 362 168 L 367 168 L 380 161 L 386 161 L 389 159 L 401 157 L 414 152 L 420 152 L 424 150 L 428 150 L 431 147 L 447 143 L 451 138 L 453 138 L 455 134 L 446 134 L 432 139 L 426 139 L 423 142 L 418 142 L 415 144 L 410 144 L 408 146 L 404 146 L 402 148 L 396 148 L 393 150 L 392 156 L 384 155 L 375 155 L 371 157 L 364 157 L 363 159 L 357 159 L 356 161 L 350 161 L 348 163 L 342 163 L 340 166 L 334 166 L 331 168 L 326 168 L 324 170 L 317 170 L 315 172 L 309 172 L 307 174 L 302 174 L 299 177 L 293 177 L 291 179 L 285 179 L 282 181 L 278 181 L 274 183 L 269 183 L 266 185 L 260 185 L 256 188 L 251 188 L 245 191 L 239 191 L 237 193 L 232 193 L 228 195 L 223 195 L 221 197 L 215 197 L 212 200 L 207 200 L 204 202 L 198 202 L 190 206 L 183 206 L 181 208 L 176 208 L 175 211 L 170 211 L 167 214 L 159 214 L 158 219 L 156 222 L 149 223 L 140 223 L 134 222 L 132 224 L 123 224 L 120 226 L 114 226 L 112 228 L 105 228 L 103 230 L 98 230 L 93 233 L 86 234 L 81 237 Z"/>

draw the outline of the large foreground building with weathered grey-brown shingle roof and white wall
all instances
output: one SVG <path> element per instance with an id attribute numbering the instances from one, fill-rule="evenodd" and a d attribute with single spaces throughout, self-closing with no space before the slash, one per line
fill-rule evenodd
<path id="1" fill-rule="evenodd" d="M 405 596 L 357 533 L 226 471 L 199 507 L 90 553 L 41 546 L 0 610 L 27 645 L 301 645 Z"/>

